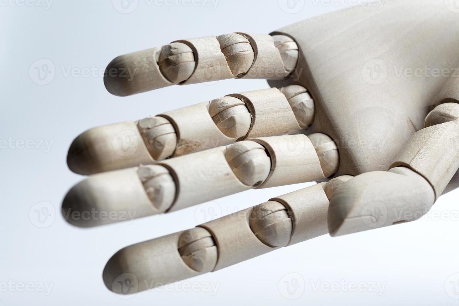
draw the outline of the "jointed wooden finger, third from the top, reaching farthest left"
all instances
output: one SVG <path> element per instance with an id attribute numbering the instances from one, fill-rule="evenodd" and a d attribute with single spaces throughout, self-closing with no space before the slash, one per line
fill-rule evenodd
<path id="1" fill-rule="evenodd" d="M 299 149 L 290 151 L 289 146 Z M 69 216 L 124 211 L 132 219 L 140 218 L 251 188 L 324 180 L 321 159 L 313 142 L 302 134 L 246 140 L 153 165 L 92 175 L 68 191 L 62 208 Z M 337 169 L 337 158 L 335 164 Z M 67 221 L 87 227 L 122 220 Z"/>

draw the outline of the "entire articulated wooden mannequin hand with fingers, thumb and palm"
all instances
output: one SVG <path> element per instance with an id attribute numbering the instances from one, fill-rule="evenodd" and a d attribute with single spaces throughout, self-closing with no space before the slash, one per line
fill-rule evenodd
<path id="1" fill-rule="evenodd" d="M 419 219 L 459 186 L 458 17 L 443 1 L 387 0 L 271 35 L 179 40 L 112 60 L 105 85 L 121 96 L 234 77 L 273 88 L 84 132 L 67 163 L 91 176 L 64 199 L 70 223 L 111 222 L 71 217 L 92 209 L 144 217 L 251 188 L 321 183 L 128 246 L 107 263 L 107 287 L 145 290 L 149 280 L 215 271 L 327 232 Z"/>

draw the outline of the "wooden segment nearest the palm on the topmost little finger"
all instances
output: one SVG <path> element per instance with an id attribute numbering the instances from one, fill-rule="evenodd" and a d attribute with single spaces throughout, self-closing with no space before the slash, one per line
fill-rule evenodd
<path id="1" fill-rule="evenodd" d="M 279 50 L 274 45 L 274 40 L 268 34 L 237 33 L 246 37 L 252 45 L 255 57 L 249 71 L 241 78 L 270 80 L 284 79 L 284 64 Z"/>

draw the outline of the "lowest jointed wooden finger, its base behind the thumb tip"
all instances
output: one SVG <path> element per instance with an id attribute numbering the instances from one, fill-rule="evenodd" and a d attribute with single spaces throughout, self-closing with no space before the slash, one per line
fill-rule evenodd
<path id="1" fill-rule="evenodd" d="M 137 286 L 129 292 L 132 294 L 324 235 L 329 203 L 326 187 L 327 183 L 320 183 L 194 229 L 125 247 L 107 262 L 104 282 L 109 290 L 120 293 L 118 280 L 134 281 Z"/>

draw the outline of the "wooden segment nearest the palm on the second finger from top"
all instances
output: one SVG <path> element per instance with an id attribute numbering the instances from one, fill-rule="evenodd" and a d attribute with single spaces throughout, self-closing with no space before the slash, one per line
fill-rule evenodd
<path id="1" fill-rule="evenodd" d="M 228 96 L 244 101 L 252 115 L 251 128 L 245 139 L 291 134 L 302 130 L 285 95 L 277 88 L 234 93 Z"/>

